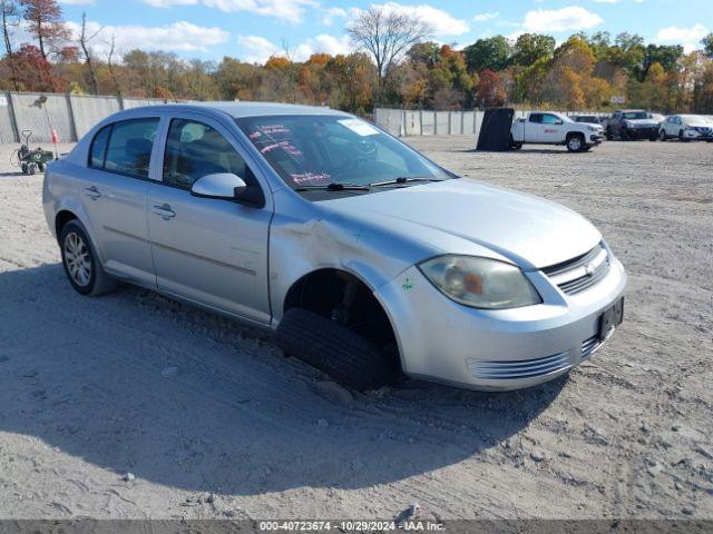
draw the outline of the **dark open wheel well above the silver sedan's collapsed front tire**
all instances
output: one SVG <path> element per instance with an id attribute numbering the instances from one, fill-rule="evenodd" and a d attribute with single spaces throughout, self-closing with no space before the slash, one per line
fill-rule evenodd
<path id="1" fill-rule="evenodd" d="M 287 291 L 283 312 L 295 307 L 342 323 L 399 359 L 389 316 L 369 286 L 351 273 L 320 269 L 303 276 Z"/>

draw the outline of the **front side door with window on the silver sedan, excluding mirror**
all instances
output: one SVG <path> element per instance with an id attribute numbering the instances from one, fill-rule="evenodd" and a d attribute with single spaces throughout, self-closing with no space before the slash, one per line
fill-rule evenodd
<path id="1" fill-rule="evenodd" d="M 215 172 L 266 191 L 238 150 L 233 134 L 209 118 L 186 113 L 170 121 L 163 181 L 147 198 L 152 255 L 160 290 L 268 324 L 271 197 L 247 206 L 191 195 L 195 180 Z"/>

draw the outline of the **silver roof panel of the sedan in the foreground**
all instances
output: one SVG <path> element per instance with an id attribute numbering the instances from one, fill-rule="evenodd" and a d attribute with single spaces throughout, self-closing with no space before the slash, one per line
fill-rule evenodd
<path id="1" fill-rule="evenodd" d="M 158 106 L 144 106 L 133 110 L 154 111 L 158 109 L 174 111 L 217 111 L 229 115 L 233 118 L 263 117 L 271 115 L 344 115 L 343 111 L 324 106 L 300 106 L 279 102 L 180 102 Z"/>

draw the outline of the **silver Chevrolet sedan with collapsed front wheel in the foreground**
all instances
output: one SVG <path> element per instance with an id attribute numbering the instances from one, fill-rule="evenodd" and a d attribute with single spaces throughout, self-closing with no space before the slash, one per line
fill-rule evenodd
<path id="1" fill-rule="evenodd" d="M 328 108 L 125 110 L 49 165 L 42 202 L 78 293 L 128 281 L 275 330 L 356 388 L 531 386 L 623 319 L 626 274 L 584 217 Z"/>

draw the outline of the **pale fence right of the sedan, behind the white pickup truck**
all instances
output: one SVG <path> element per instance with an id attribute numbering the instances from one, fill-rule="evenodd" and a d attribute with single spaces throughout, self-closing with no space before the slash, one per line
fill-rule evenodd
<path id="1" fill-rule="evenodd" d="M 525 117 L 529 111 L 516 110 L 515 118 Z M 596 115 L 606 117 L 608 113 L 594 111 L 559 111 L 573 115 Z M 401 110 L 374 109 L 374 122 L 394 136 L 462 136 L 480 134 L 484 111 L 437 111 L 437 110 Z"/>

